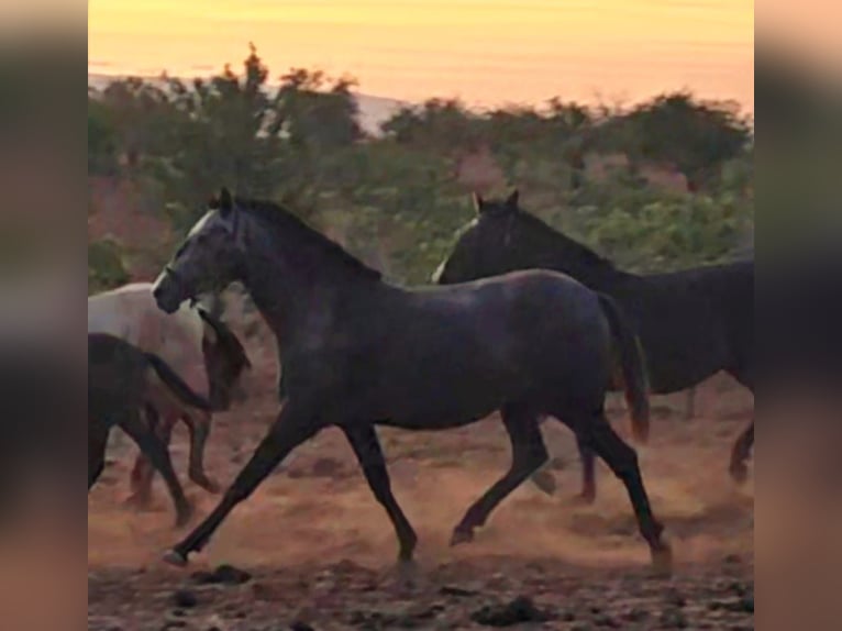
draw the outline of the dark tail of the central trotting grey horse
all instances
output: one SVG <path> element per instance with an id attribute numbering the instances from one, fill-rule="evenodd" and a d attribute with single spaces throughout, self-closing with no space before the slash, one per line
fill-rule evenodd
<path id="1" fill-rule="evenodd" d="M 598 294 L 602 312 L 608 319 L 611 336 L 619 351 L 622 368 L 622 387 L 625 402 L 631 410 L 632 434 L 639 443 L 649 440 L 649 379 L 643 348 L 638 335 L 617 302 L 605 294 Z"/>

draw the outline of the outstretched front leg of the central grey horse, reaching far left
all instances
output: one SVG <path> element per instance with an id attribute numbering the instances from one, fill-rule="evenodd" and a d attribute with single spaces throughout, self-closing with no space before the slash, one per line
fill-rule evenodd
<path id="1" fill-rule="evenodd" d="M 234 507 L 251 496 L 289 452 L 324 427 L 317 419 L 315 411 L 310 407 L 302 408 L 291 401 L 284 406 L 277 420 L 222 496 L 217 508 L 167 552 L 164 560 L 173 565 L 186 565 L 190 553 L 199 552 L 208 544 Z"/>

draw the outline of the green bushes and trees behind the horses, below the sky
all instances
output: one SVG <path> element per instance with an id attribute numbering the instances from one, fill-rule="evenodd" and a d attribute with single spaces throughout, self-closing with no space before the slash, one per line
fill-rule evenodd
<path id="1" fill-rule="evenodd" d="M 401 283 L 425 281 L 472 218 L 457 165 L 478 151 L 528 210 L 623 265 L 718 261 L 751 231 L 752 132 L 730 106 L 678 92 L 628 111 L 552 99 L 477 112 L 432 99 L 366 137 L 355 87 L 301 68 L 273 84 L 254 46 L 240 74 L 113 81 L 88 99 L 89 171 L 132 177 L 177 235 L 222 185 L 275 199 Z M 600 153 L 630 164 L 591 177 L 586 157 Z M 651 184 L 640 167 L 652 164 L 699 192 Z M 97 283 L 120 277 L 114 256 L 96 256 Z"/>

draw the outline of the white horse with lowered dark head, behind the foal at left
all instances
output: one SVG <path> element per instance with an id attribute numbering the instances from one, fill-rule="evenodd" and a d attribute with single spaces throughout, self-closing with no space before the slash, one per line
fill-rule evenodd
<path id="1" fill-rule="evenodd" d="M 155 306 L 151 283 L 132 283 L 90 296 L 88 332 L 110 333 L 158 354 L 193 391 L 210 399 L 210 411 L 225 411 L 234 399 L 243 397 L 241 379 L 251 363 L 236 335 L 201 307 L 185 303 L 166 316 Z M 168 445 L 175 423 L 184 420 L 190 432 L 189 477 L 206 490 L 219 492 L 219 484 L 204 473 L 211 414 L 186 409 L 171 398 L 159 400 L 165 407 L 148 410 L 155 417 L 158 438 Z M 154 474 L 148 458 L 139 453 L 130 478 L 129 505 L 148 506 Z"/>

